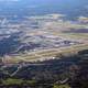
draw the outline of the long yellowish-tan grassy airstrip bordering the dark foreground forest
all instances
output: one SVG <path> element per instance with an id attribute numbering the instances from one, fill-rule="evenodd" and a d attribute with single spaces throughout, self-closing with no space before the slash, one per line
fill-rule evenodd
<path id="1" fill-rule="evenodd" d="M 51 48 L 51 50 L 43 50 L 38 52 L 32 52 L 30 54 L 18 54 L 13 56 L 6 56 L 3 57 L 3 63 L 6 64 L 18 64 L 20 62 L 30 63 L 30 62 L 43 62 L 47 59 L 54 59 L 56 55 L 72 55 L 76 54 L 79 51 L 87 50 L 88 44 L 80 44 L 80 45 L 73 45 L 67 47 L 61 48 Z"/>

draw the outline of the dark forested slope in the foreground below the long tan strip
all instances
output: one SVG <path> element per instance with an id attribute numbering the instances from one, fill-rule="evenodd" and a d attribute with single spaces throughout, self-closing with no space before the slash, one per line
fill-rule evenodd
<path id="1" fill-rule="evenodd" d="M 0 86 L 30 88 L 88 88 L 88 50 L 75 55 L 56 55 L 56 59 L 22 67 L 14 76 L 0 72 Z M 7 67 L 6 72 L 12 72 Z"/>

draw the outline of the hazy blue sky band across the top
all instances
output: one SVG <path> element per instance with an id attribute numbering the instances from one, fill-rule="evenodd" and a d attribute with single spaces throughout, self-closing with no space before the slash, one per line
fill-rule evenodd
<path id="1" fill-rule="evenodd" d="M 2 13 L 65 13 L 68 16 L 88 15 L 88 0 L 0 0 Z M 0 13 L 1 13 L 0 12 Z"/>

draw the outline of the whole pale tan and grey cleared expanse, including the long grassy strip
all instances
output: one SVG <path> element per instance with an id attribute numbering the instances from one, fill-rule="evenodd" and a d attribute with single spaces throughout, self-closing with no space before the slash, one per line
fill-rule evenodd
<path id="1" fill-rule="evenodd" d="M 63 16 L 63 18 L 62 18 Z M 34 22 L 34 24 L 30 21 Z M 18 53 L 14 55 L 4 55 L 2 62 L 6 64 L 18 64 L 21 62 L 37 62 L 54 59 L 57 54 L 72 54 L 77 53 L 81 50 L 88 48 L 88 33 L 74 33 L 73 30 L 88 29 L 88 19 L 78 19 L 77 21 L 64 21 L 64 15 L 59 14 L 48 14 L 43 16 L 31 16 L 28 18 L 26 22 L 22 22 L 23 25 L 22 34 L 19 35 L 19 40 L 22 44 L 29 46 L 29 42 L 34 44 L 42 44 L 41 50 L 32 48 L 31 52 Z M 38 26 L 38 29 L 29 28 Z M 21 28 L 19 28 L 21 29 Z M 30 30 L 29 30 L 30 29 Z M 66 32 L 64 32 L 66 31 Z M 72 31 L 68 33 L 68 31 Z M 23 35 L 24 34 L 24 35 Z M 64 45 L 63 47 L 54 47 L 58 38 L 78 42 L 79 44 Z M 58 40 L 58 43 L 62 42 Z M 47 48 L 44 48 L 46 45 Z M 52 47 L 50 47 L 52 46 Z M 22 46 L 23 47 L 23 46 Z M 18 47 L 19 50 L 19 47 Z M 36 51 L 35 51 L 36 50 Z M 19 50 L 20 51 L 20 50 Z M 34 51 L 34 52 L 33 52 Z M 18 51 L 16 51 L 18 52 Z"/>

